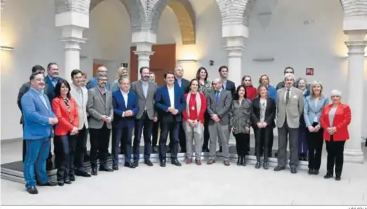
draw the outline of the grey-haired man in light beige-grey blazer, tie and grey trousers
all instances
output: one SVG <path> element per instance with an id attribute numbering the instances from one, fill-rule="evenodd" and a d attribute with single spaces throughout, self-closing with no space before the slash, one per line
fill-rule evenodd
<path id="1" fill-rule="evenodd" d="M 291 173 L 297 173 L 298 166 L 298 128 L 303 112 L 304 98 L 302 90 L 295 88 L 294 74 L 286 74 L 284 83 L 286 86 L 276 92 L 278 112 L 276 114 L 276 126 L 278 127 L 278 166 L 274 171 L 286 169 L 287 142 L 289 134 L 289 149 L 291 160 L 289 166 Z"/>

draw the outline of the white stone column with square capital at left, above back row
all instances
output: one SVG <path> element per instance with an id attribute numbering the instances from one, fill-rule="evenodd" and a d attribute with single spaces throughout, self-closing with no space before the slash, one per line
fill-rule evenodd
<path id="1" fill-rule="evenodd" d="M 60 41 L 65 42 L 65 67 L 63 79 L 71 81 L 73 69 L 80 69 L 80 43 L 85 43 L 83 30 L 89 27 L 89 15 L 73 11 L 59 13 L 55 17 L 56 27 L 62 27 Z"/>

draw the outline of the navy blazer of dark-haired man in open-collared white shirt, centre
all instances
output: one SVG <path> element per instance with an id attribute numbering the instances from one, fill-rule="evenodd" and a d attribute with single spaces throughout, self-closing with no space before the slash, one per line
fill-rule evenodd
<path id="1" fill-rule="evenodd" d="M 159 121 L 182 121 L 182 111 L 186 108 L 186 99 L 185 94 L 182 91 L 182 88 L 178 86 L 177 83 L 175 85 L 175 109 L 178 110 L 178 114 L 173 115 L 171 112 L 168 112 L 168 107 L 171 107 L 170 97 L 168 95 L 167 86 L 162 86 L 156 89 L 156 95 L 154 97 L 156 108 L 158 109 Z"/>

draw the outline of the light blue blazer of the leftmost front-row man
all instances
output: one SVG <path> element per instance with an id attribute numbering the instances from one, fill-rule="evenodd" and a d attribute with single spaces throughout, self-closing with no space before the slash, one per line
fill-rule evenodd
<path id="1" fill-rule="evenodd" d="M 46 100 L 47 107 L 41 97 Z M 23 138 L 25 140 L 41 140 L 53 137 L 53 126 L 49 118 L 56 118 L 47 95 L 29 88 L 20 101 L 24 116 Z"/>

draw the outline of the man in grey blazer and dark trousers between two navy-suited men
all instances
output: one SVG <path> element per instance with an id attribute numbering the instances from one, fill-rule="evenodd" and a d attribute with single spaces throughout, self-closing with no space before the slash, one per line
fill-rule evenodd
<path id="1" fill-rule="evenodd" d="M 135 137 L 133 142 L 134 166 L 138 167 L 140 159 L 140 138 L 144 130 L 144 163 L 153 166 L 150 161 L 152 153 L 152 128 L 156 122 L 154 95 L 156 83 L 149 81 L 149 67 L 140 68 L 140 81 L 131 84 L 131 90 L 138 95 L 139 112 L 135 117 Z"/>

